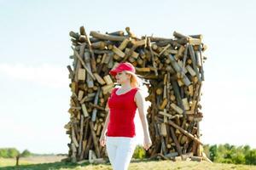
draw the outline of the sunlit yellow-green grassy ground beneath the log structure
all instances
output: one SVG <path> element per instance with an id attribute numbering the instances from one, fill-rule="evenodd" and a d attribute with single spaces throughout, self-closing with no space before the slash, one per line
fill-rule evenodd
<path id="1" fill-rule="evenodd" d="M 82 164 L 61 162 L 65 156 L 33 156 L 20 158 L 20 166 L 15 167 L 15 159 L 0 158 L 0 169 L 35 169 L 35 170 L 52 170 L 52 169 L 83 169 L 83 170 L 112 170 L 109 163 L 107 164 Z M 209 163 L 207 161 L 138 161 L 132 160 L 129 170 L 215 170 L 215 169 L 234 169 L 234 170 L 251 170 L 256 166 L 234 165 Z"/>

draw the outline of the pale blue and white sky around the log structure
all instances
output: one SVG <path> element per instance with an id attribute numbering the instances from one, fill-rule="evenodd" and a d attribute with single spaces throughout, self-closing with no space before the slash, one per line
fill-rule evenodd
<path id="1" fill-rule="evenodd" d="M 253 0 L 0 0 L 0 148 L 67 153 L 69 31 L 80 26 L 88 34 L 126 26 L 138 37 L 202 34 L 201 141 L 256 148 L 255 7 Z"/>

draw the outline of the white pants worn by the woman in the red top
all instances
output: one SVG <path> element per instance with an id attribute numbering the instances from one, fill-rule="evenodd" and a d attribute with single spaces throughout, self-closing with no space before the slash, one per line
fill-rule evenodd
<path id="1" fill-rule="evenodd" d="M 136 138 L 110 137 L 106 138 L 106 149 L 113 170 L 127 170 L 136 148 Z"/>

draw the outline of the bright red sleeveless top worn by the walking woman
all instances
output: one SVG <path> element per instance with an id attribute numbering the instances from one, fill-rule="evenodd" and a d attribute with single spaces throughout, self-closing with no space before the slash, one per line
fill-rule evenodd
<path id="1" fill-rule="evenodd" d="M 132 88 L 125 94 L 116 94 L 119 88 L 113 88 L 108 98 L 109 122 L 107 136 L 134 137 L 134 116 L 137 110 L 134 96 L 138 88 Z"/>

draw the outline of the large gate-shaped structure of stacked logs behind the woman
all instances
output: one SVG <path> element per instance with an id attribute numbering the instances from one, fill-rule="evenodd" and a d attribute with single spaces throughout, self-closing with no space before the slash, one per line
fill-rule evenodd
<path id="1" fill-rule="evenodd" d="M 174 38 L 137 37 L 129 27 L 125 31 L 100 33 L 84 26 L 70 31 L 73 42 L 73 67 L 67 65 L 71 79 L 70 122 L 65 125 L 71 143 L 71 161 L 107 157 L 99 138 L 108 114 L 106 104 L 114 88 L 108 72 L 119 62 L 130 62 L 136 73 L 148 83 L 148 127 L 153 145 L 148 158 L 200 159 L 199 122 L 202 118 L 201 85 L 204 81 L 202 53 L 206 45 L 201 35 Z"/>

